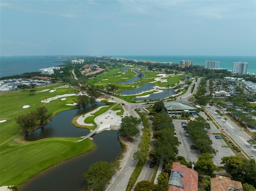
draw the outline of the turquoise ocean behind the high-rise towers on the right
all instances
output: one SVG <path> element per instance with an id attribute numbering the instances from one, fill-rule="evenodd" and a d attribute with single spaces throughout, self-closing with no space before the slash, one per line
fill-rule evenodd
<path id="1" fill-rule="evenodd" d="M 233 62 L 248 62 L 248 73 L 256 73 L 256 56 L 122 56 L 113 55 L 112 57 L 122 57 L 126 59 L 136 59 L 138 61 L 155 62 L 174 62 L 180 63 L 181 60 L 194 61 L 194 65 L 204 65 L 204 61 L 219 61 L 220 68 L 233 69 Z"/>

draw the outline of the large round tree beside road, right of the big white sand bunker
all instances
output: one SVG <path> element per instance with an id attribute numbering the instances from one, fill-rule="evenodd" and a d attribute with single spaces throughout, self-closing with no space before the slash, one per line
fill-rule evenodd
<path id="1" fill-rule="evenodd" d="M 140 120 L 133 116 L 125 116 L 122 118 L 121 127 L 118 130 L 121 136 L 127 136 L 131 138 L 136 137 L 140 134 L 137 126 L 140 124 Z"/>

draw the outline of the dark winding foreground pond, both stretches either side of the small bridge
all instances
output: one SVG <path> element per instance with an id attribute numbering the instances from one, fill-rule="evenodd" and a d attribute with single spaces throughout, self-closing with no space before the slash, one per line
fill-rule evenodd
<path id="1" fill-rule="evenodd" d="M 26 140 L 39 140 L 47 137 L 80 137 L 90 131 L 72 125 L 74 116 L 90 112 L 105 103 L 98 102 L 83 109 L 72 109 L 58 113 L 44 128 L 26 136 Z M 21 185 L 18 191 L 80 191 L 86 187 L 83 173 L 96 161 L 114 162 L 122 152 L 117 131 L 103 131 L 93 136 L 96 148 L 86 154 L 63 161 L 32 177 Z"/>

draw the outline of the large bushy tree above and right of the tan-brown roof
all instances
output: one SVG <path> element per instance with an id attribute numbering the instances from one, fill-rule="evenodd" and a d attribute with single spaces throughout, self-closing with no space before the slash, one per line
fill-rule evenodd
<path id="1" fill-rule="evenodd" d="M 234 178 L 242 175 L 242 159 L 238 156 L 226 156 L 221 158 L 221 164 L 224 164 L 222 169 Z"/>

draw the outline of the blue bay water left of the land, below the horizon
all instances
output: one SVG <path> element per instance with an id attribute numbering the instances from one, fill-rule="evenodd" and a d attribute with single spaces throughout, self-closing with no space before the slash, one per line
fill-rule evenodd
<path id="1" fill-rule="evenodd" d="M 62 65 L 65 59 L 51 56 L 8 56 L 0 57 L 0 77 L 38 72 L 38 69 Z"/>

